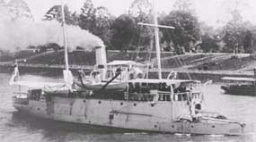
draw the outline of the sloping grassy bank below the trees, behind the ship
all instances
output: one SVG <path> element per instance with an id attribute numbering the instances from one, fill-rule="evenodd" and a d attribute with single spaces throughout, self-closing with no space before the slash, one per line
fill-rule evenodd
<path id="1" fill-rule="evenodd" d="M 256 67 L 256 60 L 250 54 L 181 54 L 175 55 L 173 53 L 161 54 L 162 68 L 167 71 L 190 71 L 200 73 L 200 71 L 252 71 Z M 25 60 L 22 60 L 23 64 L 38 64 L 43 65 L 44 68 L 53 67 L 58 68 L 64 65 L 64 52 L 48 52 L 41 54 L 27 54 L 24 53 L 20 56 Z M 84 51 L 73 51 L 68 54 L 69 63 L 73 66 L 92 67 L 95 61 L 95 53 Z M 113 60 L 133 60 L 140 63 L 151 62 L 156 68 L 155 53 L 147 52 L 119 52 L 108 51 L 107 60 L 111 62 Z M 2 66 L 3 67 L 3 66 Z M 29 68 L 29 66 L 26 66 Z M 41 67 L 42 68 L 42 67 Z M 208 73 L 208 72 L 207 72 Z M 202 74 L 202 72 L 201 72 Z M 236 74 L 236 73 L 231 73 Z M 244 73 L 241 73 L 244 74 Z M 246 73 L 245 73 L 246 74 Z"/>

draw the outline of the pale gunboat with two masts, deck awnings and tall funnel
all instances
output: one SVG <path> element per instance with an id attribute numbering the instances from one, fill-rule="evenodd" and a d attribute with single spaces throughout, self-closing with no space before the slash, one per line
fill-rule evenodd
<path id="1" fill-rule="evenodd" d="M 158 25 L 155 15 L 154 24 L 140 24 L 154 27 L 159 79 L 128 79 L 126 88 L 119 90 L 76 88 L 68 69 L 65 45 L 65 82 L 54 85 L 47 82 L 25 83 L 31 89 L 13 96 L 14 108 L 44 119 L 119 129 L 196 135 L 243 135 L 252 131 L 241 121 L 229 120 L 218 113 L 207 113 L 198 80 L 162 79 L 158 28 L 172 27 Z M 62 18 L 64 29 L 65 17 Z M 104 57 L 103 49 L 97 47 L 96 55 Z M 96 59 L 103 66 L 105 61 L 104 58 Z M 17 67 L 12 79 L 18 75 Z M 19 80 L 11 82 L 22 85 Z M 106 86 L 108 84 L 110 81 Z"/>

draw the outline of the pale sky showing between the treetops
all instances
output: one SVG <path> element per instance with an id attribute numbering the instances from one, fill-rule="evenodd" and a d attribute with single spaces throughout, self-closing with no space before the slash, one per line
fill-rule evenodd
<path id="1" fill-rule="evenodd" d="M 6 0 L 9 1 L 9 0 Z M 31 8 L 36 21 L 40 21 L 44 13 L 54 4 L 61 4 L 61 0 L 24 0 Z M 85 0 L 62 0 L 73 12 L 80 12 Z M 94 6 L 105 6 L 115 16 L 128 12 L 133 0 L 92 0 Z M 175 0 L 155 0 L 158 13 L 170 13 Z M 256 24 L 256 0 L 193 0 L 194 9 L 199 21 L 205 21 L 211 26 L 220 26 L 230 18 L 228 9 L 234 8 L 238 1 L 238 9 L 243 9 L 243 20 Z"/>

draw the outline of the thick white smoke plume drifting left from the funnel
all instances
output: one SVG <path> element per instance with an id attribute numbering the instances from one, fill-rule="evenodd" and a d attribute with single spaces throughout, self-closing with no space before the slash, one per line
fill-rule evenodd
<path id="1" fill-rule="evenodd" d="M 71 49 L 80 46 L 84 50 L 92 50 L 95 46 L 103 46 L 100 38 L 77 26 L 66 25 L 66 37 L 67 46 Z M 13 52 L 48 43 L 63 46 L 62 27 L 59 22 L 13 20 L 7 7 L 0 5 L 0 50 Z"/>

